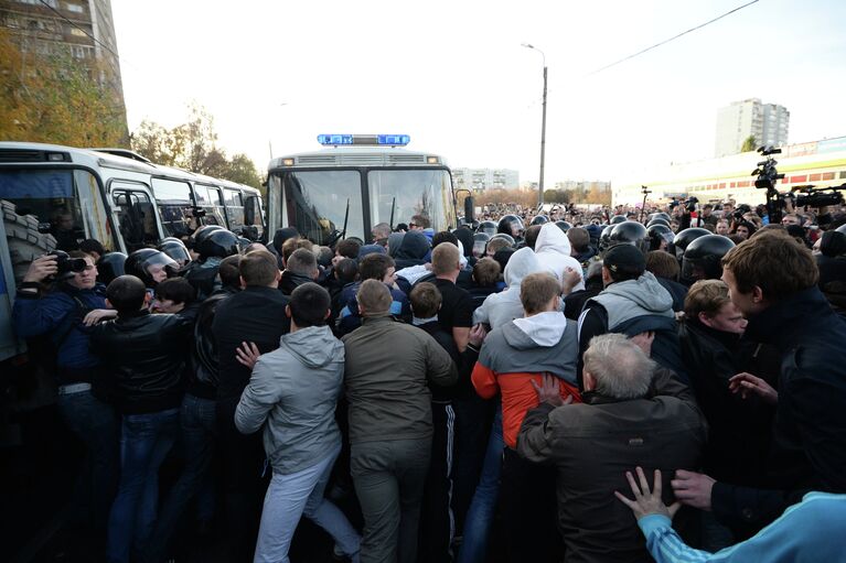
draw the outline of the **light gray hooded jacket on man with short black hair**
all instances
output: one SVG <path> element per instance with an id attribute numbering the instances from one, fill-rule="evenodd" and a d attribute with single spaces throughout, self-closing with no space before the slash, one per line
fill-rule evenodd
<path id="1" fill-rule="evenodd" d="M 344 345 L 328 326 L 286 334 L 261 355 L 235 411 L 244 434 L 265 422 L 265 453 L 275 473 L 296 473 L 341 445 L 335 405 L 344 381 Z"/>

